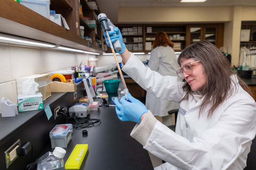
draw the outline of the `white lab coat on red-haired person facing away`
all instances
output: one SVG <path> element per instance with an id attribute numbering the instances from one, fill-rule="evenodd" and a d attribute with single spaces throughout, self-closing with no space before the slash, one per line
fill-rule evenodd
<path id="1" fill-rule="evenodd" d="M 157 71 L 162 76 L 177 76 L 176 71 L 180 69 L 174 50 L 169 46 L 154 48 L 150 54 L 148 67 L 151 70 Z M 167 116 L 169 115 L 169 110 L 178 109 L 179 106 L 179 103 L 157 98 L 150 92 L 147 92 L 146 107 L 155 116 Z"/>

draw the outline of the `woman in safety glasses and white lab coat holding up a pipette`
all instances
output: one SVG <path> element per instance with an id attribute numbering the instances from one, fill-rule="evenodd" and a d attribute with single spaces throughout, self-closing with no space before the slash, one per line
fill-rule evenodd
<path id="1" fill-rule="evenodd" d="M 115 99 L 118 118 L 137 122 L 131 136 L 166 161 L 155 169 L 242 170 L 256 133 L 256 103 L 219 49 L 206 41 L 185 48 L 177 73 L 186 82 L 179 82 L 145 67 L 125 48 L 118 28 L 110 34 L 111 41 L 118 38 L 124 48 L 124 72 L 156 97 L 180 101 L 173 132 L 130 93 L 130 102 Z"/>

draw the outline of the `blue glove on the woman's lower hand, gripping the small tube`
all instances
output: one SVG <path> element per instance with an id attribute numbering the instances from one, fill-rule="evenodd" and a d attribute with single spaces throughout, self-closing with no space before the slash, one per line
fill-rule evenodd
<path id="1" fill-rule="evenodd" d="M 116 105 L 116 115 L 121 121 L 132 121 L 140 123 L 140 118 L 144 113 L 148 112 L 147 107 L 140 102 L 140 100 L 132 97 L 130 93 L 127 93 L 127 98 L 122 97 L 120 102 L 115 98 L 114 103 Z"/>

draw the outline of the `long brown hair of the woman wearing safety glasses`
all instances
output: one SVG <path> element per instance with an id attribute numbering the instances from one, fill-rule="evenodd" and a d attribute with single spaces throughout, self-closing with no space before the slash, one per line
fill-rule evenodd
<path id="1" fill-rule="evenodd" d="M 214 112 L 229 96 L 234 94 L 237 89 L 232 89 L 232 83 L 236 84 L 231 76 L 236 74 L 228 62 L 228 59 L 220 52 L 220 50 L 208 41 L 198 41 L 186 47 L 178 57 L 178 63 L 189 58 L 200 60 L 204 66 L 204 75 L 206 84 L 201 91 L 204 100 L 199 109 L 198 118 L 207 113 L 210 118 Z M 252 92 L 248 85 L 239 76 L 238 83 L 242 88 L 252 96 Z M 188 94 L 192 94 L 192 90 L 187 82 L 183 85 L 183 90 L 187 92 L 182 100 L 188 99 Z M 182 101 L 181 100 L 181 101 Z M 205 110 L 210 105 L 210 110 Z"/>

